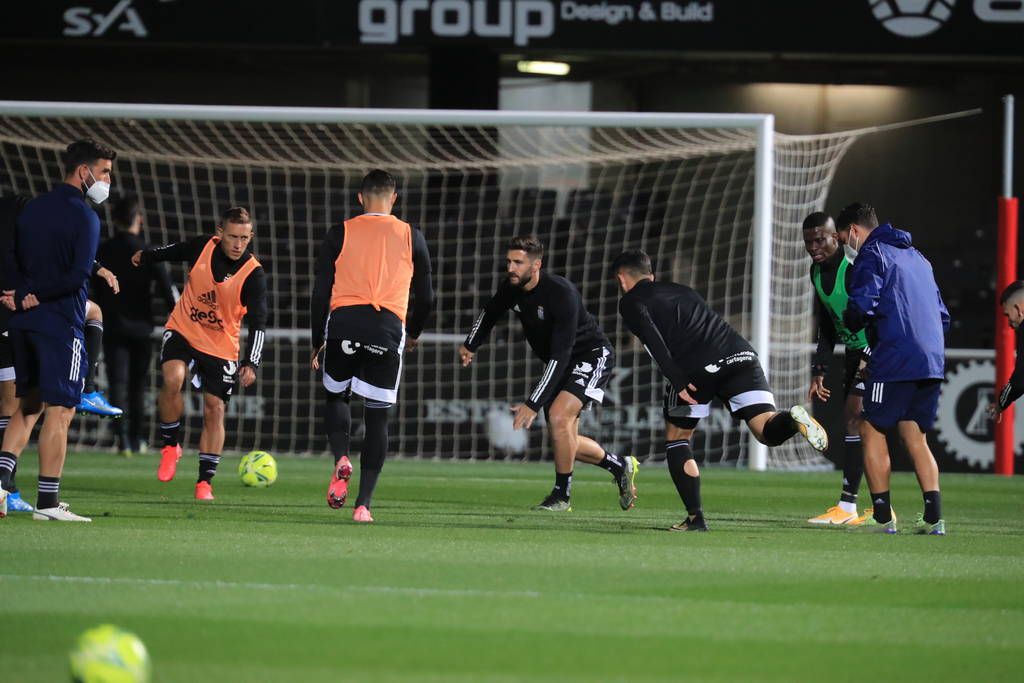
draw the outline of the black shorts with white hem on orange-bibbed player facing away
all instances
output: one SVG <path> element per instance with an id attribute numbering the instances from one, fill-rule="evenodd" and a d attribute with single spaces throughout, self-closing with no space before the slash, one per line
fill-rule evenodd
<path id="1" fill-rule="evenodd" d="M 331 393 L 354 393 L 393 405 L 398 400 L 404 350 L 404 336 L 397 348 L 355 339 L 328 339 L 324 346 L 324 386 Z"/>

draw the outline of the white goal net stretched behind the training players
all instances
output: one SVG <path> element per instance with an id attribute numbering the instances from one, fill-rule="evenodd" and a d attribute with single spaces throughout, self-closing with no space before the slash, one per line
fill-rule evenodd
<path id="1" fill-rule="evenodd" d="M 654 125 L 651 115 L 628 114 L 581 121 L 586 115 L 70 104 L 27 113 L 12 104 L 0 104 L 2 193 L 46 191 L 60 181 L 62 148 L 88 135 L 117 151 L 115 197 L 140 198 L 152 245 L 211 233 L 229 206 L 252 211 L 271 329 L 257 384 L 229 403 L 227 450 L 326 451 L 323 389 L 309 370 L 312 264 L 328 227 L 359 212 L 359 181 L 377 167 L 398 181 L 395 213 L 426 236 L 437 292 L 427 334 L 404 366 L 394 453 L 550 458 L 544 429 L 511 431 L 509 405 L 526 396 L 542 368 L 511 314 L 472 367 L 458 364 L 459 344 L 504 278 L 505 244 L 522 233 L 541 238 L 544 267 L 579 287 L 615 346 L 605 404 L 582 419 L 582 431 L 605 447 L 664 457 L 663 380 L 620 322 L 608 272 L 628 248 L 647 251 L 658 278 L 695 288 L 749 339 L 756 337 L 755 258 L 766 249 L 770 383 L 780 407 L 804 401 L 813 326 L 800 225 L 822 208 L 854 134 L 774 135 L 773 229 L 765 244 L 755 229 L 757 129 L 736 127 L 737 116 L 705 116 L 700 125 L 662 116 Z M 99 207 L 110 234 L 108 210 Z M 183 264 L 172 272 L 180 285 Z M 154 392 L 158 381 L 154 372 Z M 195 449 L 202 403 L 190 393 L 185 404 L 185 443 Z M 155 396 L 147 405 L 155 413 Z M 79 447 L 113 443 L 109 423 L 79 417 L 73 429 Z M 745 464 L 751 456 L 745 427 L 722 405 L 698 433 L 709 463 Z M 773 468 L 821 464 L 796 440 L 768 456 Z"/>

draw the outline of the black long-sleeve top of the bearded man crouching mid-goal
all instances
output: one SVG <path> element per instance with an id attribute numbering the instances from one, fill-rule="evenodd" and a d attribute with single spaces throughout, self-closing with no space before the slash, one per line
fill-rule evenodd
<path id="1" fill-rule="evenodd" d="M 529 347 L 547 364 L 525 401 L 534 411 L 550 402 L 573 357 L 602 346 L 611 348 L 597 321 L 584 307 L 580 291 L 561 275 L 546 272 L 528 292 L 508 281 L 502 283 L 466 336 L 466 348 L 476 351 L 509 308 L 519 316 Z"/>

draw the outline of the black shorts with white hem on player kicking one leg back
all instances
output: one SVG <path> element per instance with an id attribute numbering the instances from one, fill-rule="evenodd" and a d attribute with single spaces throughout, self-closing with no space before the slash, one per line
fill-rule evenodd
<path id="1" fill-rule="evenodd" d="M 713 365 L 727 368 L 727 360 L 726 358 Z M 700 418 L 711 415 L 713 398 L 725 403 L 729 413 L 738 420 L 750 420 L 775 410 L 775 396 L 772 395 L 764 370 L 756 358 L 753 362 L 744 361 L 724 374 L 720 374 L 720 371 L 714 374 L 706 372 L 693 381 L 693 386 L 697 387 L 696 395 L 693 396 L 697 402 L 691 405 L 682 402 L 672 385 L 666 383 L 662 413 L 667 423 L 680 429 L 694 429 Z"/>

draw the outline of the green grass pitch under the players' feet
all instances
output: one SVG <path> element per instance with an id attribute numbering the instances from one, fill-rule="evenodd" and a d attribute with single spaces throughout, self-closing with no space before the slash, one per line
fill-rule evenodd
<path id="1" fill-rule="evenodd" d="M 19 476 L 34 493 L 34 455 Z M 84 629 L 150 648 L 154 680 L 995 681 L 1024 666 L 1024 481 L 943 478 L 946 538 L 803 523 L 839 474 L 710 469 L 711 533 L 664 464 L 637 508 L 579 467 L 574 511 L 529 506 L 550 464 L 389 462 L 374 514 L 324 503 L 325 460 L 279 459 L 268 489 L 225 458 L 73 456 L 65 497 L 92 524 L 0 521 L 0 679 L 68 680 Z M 33 496 L 28 496 L 33 500 Z M 893 502 L 921 508 L 911 475 Z"/>

